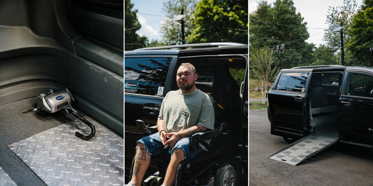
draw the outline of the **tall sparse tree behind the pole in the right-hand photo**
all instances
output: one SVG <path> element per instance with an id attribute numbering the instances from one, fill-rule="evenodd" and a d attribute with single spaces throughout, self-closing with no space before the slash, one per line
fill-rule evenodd
<path id="1" fill-rule="evenodd" d="M 337 7 L 330 7 L 328 15 L 326 15 L 326 23 L 329 24 L 329 28 L 327 29 L 327 32 L 325 32 L 323 36 L 323 40 L 326 41 L 326 45 L 330 47 L 333 51 L 338 51 L 336 55 L 341 55 L 341 35 L 340 32 L 331 32 L 333 29 L 339 27 L 342 23 L 342 26 L 344 26 L 343 29 L 343 41 L 344 45 L 348 43 L 348 40 L 351 38 L 351 33 L 347 31 L 347 29 L 350 27 L 352 18 L 356 14 L 356 7 L 357 3 L 355 0 L 344 0 L 342 6 Z M 351 52 L 345 52 L 345 64 L 349 63 L 349 55 Z M 339 62 L 338 64 L 341 64 Z"/>

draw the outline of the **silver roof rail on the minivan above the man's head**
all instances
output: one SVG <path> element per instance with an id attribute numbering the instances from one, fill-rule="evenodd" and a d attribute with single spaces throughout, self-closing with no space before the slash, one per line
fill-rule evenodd
<path id="1" fill-rule="evenodd" d="M 171 45 L 163 47 L 148 47 L 148 48 L 139 48 L 135 50 L 159 50 L 159 49 L 170 49 L 170 48 L 187 48 L 187 47 L 228 47 L 228 46 L 248 46 L 241 43 L 232 43 L 232 42 L 216 42 L 216 43 L 199 43 L 199 44 L 185 44 L 185 45 Z"/>

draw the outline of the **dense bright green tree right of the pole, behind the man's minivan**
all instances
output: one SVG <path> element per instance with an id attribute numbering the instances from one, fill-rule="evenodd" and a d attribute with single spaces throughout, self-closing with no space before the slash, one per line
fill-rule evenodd
<path id="1" fill-rule="evenodd" d="M 201 0 L 195 7 L 189 43 L 248 44 L 247 0 Z"/>

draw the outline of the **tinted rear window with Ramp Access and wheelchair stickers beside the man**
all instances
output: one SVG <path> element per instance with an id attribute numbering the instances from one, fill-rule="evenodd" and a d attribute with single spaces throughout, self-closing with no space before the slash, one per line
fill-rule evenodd
<path id="1" fill-rule="evenodd" d="M 126 58 L 124 79 L 126 93 L 161 96 L 171 57 Z"/>

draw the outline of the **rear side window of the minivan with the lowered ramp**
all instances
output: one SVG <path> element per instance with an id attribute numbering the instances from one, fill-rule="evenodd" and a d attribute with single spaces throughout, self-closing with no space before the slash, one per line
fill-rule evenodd
<path id="1" fill-rule="evenodd" d="M 282 73 L 276 90 L 304 92 L 308 73 Z"/>

